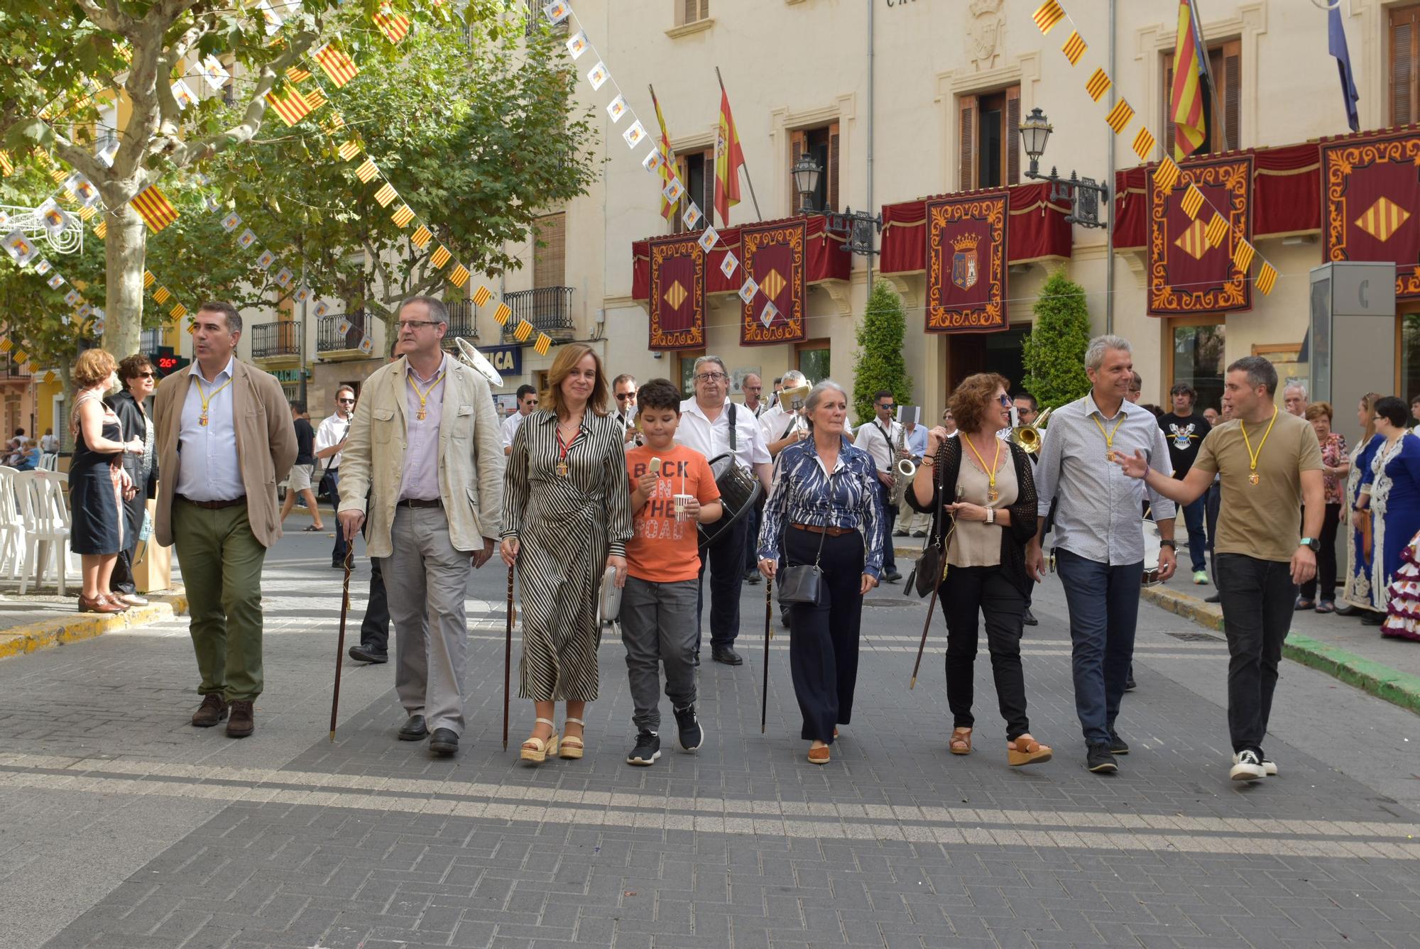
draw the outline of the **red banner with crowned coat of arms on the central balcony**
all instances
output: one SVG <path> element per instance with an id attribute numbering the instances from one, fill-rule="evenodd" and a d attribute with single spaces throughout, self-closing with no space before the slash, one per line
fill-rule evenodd
<path id="1" fill-rule="evenodd" d="M 927 332 L 1005 330 L 1007 192 L 927 202 Z"/>

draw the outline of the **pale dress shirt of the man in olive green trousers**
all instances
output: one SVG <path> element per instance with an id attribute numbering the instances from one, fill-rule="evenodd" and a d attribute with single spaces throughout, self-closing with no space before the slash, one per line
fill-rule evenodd
<path id="1" fill-rule="evenodd" d="M 195 501 L 231 501 L 246 496 L 237 460 L 237 426 L 231 418 L 231 371 L 236 357 L 209 385 L 195 361 L 187 371 L 187 398 L 178 429 L 176 490 Z M 200 386 L 200 388 L 199 388 Z M 202 399 L 207 396 L 207 423 L 202 425 Z"/>

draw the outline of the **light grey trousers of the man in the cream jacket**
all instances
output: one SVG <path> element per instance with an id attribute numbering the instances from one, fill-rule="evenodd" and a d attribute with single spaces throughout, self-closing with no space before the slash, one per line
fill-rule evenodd
<path id="1" fill-rule="evenodd" d="M 439 507 L 396 507 L 383 560 L 395 622 L 395 692 L 408 715 L 463 734 L 463 671 L 469 655 L 470 554 L 453 548 Z"/>

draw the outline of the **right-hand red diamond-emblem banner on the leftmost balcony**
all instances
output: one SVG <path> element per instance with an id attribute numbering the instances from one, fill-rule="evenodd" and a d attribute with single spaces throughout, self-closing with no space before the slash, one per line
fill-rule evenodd
<path id="1" fill-rule="evenodd" d="M 743 273 L 760 286 L 760 291 L 740 307 L 740 345 L 808 338 L 804 322 L 808 303 L 804 269 L 807 240 L 808 227 L 802 217 L 740 226 Z"/>

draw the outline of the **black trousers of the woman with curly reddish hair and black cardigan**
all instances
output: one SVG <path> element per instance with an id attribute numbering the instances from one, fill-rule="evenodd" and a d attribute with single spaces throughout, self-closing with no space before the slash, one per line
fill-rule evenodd
<path id="1" fill-rule="evenodd" d="M 1031 730 L 1025 717 L 1025 673 L 1021 669 L 1021 629 L 1025 597 L 1000 567 L 951 567 L 940 590 L 947 619 L 947 706 L 951 725 L 976 725 L 971 700 L 976 690 L 977 614 L 985 618 L 985 644 L 991 651 L 995 700 L 1005 719 L 1005 740 Z"/>

